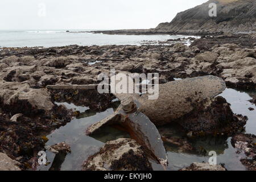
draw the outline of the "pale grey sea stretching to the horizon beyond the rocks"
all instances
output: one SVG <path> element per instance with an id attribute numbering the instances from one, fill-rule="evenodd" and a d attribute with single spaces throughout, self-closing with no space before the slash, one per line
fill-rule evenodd
<path id="1" fill-rule="evenodd" d="M 72 30 L 92 31 L 92 30 Z M 55 47 L 77 44 L 79 46 L 142 45 L 157 44 L 168 39 L 188 38 L 183 35 L 106 35 L 88 32 L 65 32 L 65 30 L 0 30 L 1 47 Z M 199 38 L 196 36 L 190 36 Z M 151 43 L 150 43 L 151 42 Z M 189 42 L 185 42 L 190 44 Z"/>

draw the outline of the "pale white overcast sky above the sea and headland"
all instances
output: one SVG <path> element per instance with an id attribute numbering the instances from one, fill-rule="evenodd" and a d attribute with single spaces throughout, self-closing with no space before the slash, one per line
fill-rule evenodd
<path id="1" fill-rule="evenodd" d="M 154 28 L 207 0 L 0 0 L 0 30 Z"/>

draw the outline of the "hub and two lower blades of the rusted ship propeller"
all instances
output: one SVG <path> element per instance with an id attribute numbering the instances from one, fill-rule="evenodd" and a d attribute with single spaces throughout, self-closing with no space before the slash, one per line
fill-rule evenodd
<path id="1" fill-rule="evenodd" d="M 123 127 L 141 146 L 143 146 L 152 159 L 159 162 L 164 169 L 167 167 L 167 155 L 162 138 L 154 123 L 137 111 L 133 98 L 127 97 L 121 101 L 121 106 L 109 117 L 102 119 L 86 130 L 86 134 L 92 135 L 102 126 L 119 125 Z"/>

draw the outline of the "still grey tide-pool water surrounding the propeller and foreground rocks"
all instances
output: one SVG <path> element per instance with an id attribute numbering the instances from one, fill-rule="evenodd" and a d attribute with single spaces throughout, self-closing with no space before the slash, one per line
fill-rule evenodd
<path id="1" fill-rule="evenodd" d="M 254 95 L 256 92 L 243 92 L 234 89 L 226 89 L 220 96 L 226 98 L 231 104 L 234 113 L 246 115 L 248 121 L 246 124 L 246 133 L 256 134 L 256 106 L 251 104 L 248 100 L 251 99 L 250 95 Z M 68 107 L 73 105 L 65 103 Z M 253 107 L 255 110 L 250 111 L 248 108 Z M 81 111 L 80 107 L 76 107 Z M 80 170 L 82 163 L 88 158 L 88 156 L 96 153 L 105 142 L 118 138 L 129 138 L 129 135 L 107 127 L 100 134 L 96 136 L 87 137 L 85 130 L 87 127 L 96 123 L 101 119 L 104 119 L 108 115 L 114 113 L 112 108 L 101 112 L 92 113 L 88 110 L 88 107 L 84 109 L 85 113 L 82 113 L 80 117 L 73 119 L 67 125 L 53 131 L 47 137 L 49 141 L 47 145 L 52 145 L 59 142 L 67 142 L 71 144 L 71 154 L 68 154 L 61 165 L 61 170 Z M 161 131 L 159 127 L 159 131 Z M 172 137 L 182 138 L 186 134 L 182 133 L 176 126 L 164 126 L 164 130 L 168 131 L 168 134 Z M 217 163 L 224 163 L 228 170 L 245 170 L 246 168 L 241 164 L 240 159 L 242 154 L 236 154 L 236 149 L 230 143 L 231 138 L 226 137 L 201 137 L 193 140 L 189 140 L 192 146 L 196 149 L 193 152 L 181 152 L 179 148 L 171 146 L 171 144 L 165 144 L 168 157 L 168 170 L 178 170 L 183 167 L 190 166 L 193 162 L 208 162 L 210 156 L 209 151 L 216 151 Z M 200 148 L 204 148 L 206 154 L 200 154 Z M 47 152 L 48 166 L 40 166 L 39 170 L 48 170 L 51 165 L 55 154 Z M 156 163 L 152 163 L 155 170 L 162 170 L 163 168 Z"/>

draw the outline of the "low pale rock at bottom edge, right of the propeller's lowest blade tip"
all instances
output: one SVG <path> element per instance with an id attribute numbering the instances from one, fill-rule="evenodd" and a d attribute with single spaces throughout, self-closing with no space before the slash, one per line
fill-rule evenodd
<path id="1" fill-rule="evenodd" d="M 193 163 L 191 166 L 180 169 L 179 171 L 226 171 L 226 169 L 218 164 Z"/>

